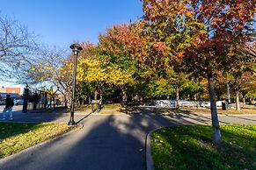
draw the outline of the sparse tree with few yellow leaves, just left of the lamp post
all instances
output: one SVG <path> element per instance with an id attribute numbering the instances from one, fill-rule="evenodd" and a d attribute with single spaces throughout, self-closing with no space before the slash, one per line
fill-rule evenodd
<path id="1" fill-rule="evenodd" d="M 35 56 L 33 62 L 22 68 L 19 81 L 51 92 L 49 94 L 52 96 L 61 92 L 67 100 L 72 79 L 66 52 L 56 47 L 51 49 L 45 46 L 41 47 Z"/>

